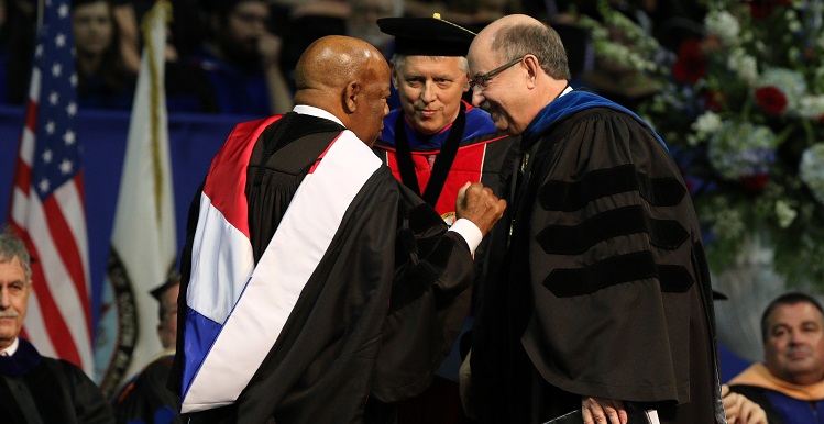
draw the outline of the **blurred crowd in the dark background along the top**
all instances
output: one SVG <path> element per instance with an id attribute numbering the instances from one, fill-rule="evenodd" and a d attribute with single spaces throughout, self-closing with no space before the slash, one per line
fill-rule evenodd
<path id="1" fill-rule="evenodd" d="M 131 109 L 140 68 L 140 22 L 152 0 L 73 0 L 80 109 Z M 264 116 L 292 109 L 294 67 L 312 41 L 331 34 L 363 38 L 391 57 L 392 37 L 375 20 L 431 16 L 482 29 L 509 13 L 550 23 L 569 51 L 573 79 L 615 101 L 647 92 L 616 87 L 592 53 L 581 16 L 603 20 L 608 3 L 659 41 L 672 56 L 684 37 L 700 36 L 705 10 L 686 0 L 174 0 L 166 45 L 169 112 Z M 0 0 L 0 100 L 26 97 L 37 21 L 36 0 Z"/>

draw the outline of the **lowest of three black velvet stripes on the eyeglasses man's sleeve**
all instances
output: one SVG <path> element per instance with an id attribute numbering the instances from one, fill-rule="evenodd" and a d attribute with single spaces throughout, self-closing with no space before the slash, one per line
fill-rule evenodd
<path id="1" fill-rule="evenodd" d="M 543 280 L 543 287 L 559 298 L 569 298 L 649 278 L 657 278 L 663 292 L 683 293 L 694 282 L 684 267 L 656 264 L 649 252 L 637 252 L 611 257 L 584 268 L 554 269 Z"/>

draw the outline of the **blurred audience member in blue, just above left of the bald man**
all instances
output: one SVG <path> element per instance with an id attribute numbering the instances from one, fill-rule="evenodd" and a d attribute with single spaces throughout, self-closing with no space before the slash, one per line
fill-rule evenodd
<path id="1" fill-rule="evenodd" d="M 209 34 L 185 60 L 209 77 L 219 113 L 268 116 L 292 109 L 279 67 L 282 41 L 267 30 L 265 0 L 208 0 Z"/>

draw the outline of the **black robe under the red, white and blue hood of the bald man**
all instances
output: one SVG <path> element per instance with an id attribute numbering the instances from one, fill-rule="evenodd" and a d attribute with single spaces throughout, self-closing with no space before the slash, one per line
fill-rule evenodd
<path id="1" fill-rule="evenodd" d="M 245 192 L 255 261 L 300 182 L 342 130 L 289 113 L 249 141 L 255 143 Z M 182 259 L 182 311 L 197 205 L 196 200 Z M 191 414 L 191 423 L 392 422 L 388 405 L 426 389 L 449 352 L 468 313 L 471 277 L 465 241 L 448 233 L 440 216 L 388 168 L 378 167 L 237 402 Z M 179 315 L 173 384 L 179 384 L 186 352 Z"/>

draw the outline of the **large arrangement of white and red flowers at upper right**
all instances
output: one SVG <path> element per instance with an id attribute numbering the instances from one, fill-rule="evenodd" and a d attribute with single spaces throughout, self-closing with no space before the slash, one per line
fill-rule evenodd
<path id="1" fill-rule="evenodd" d="M 824 1 L 705 1 L 640 113 L 681 166 L 714 271 L 755 232 L 789 283 L 824 289 Z"/>

